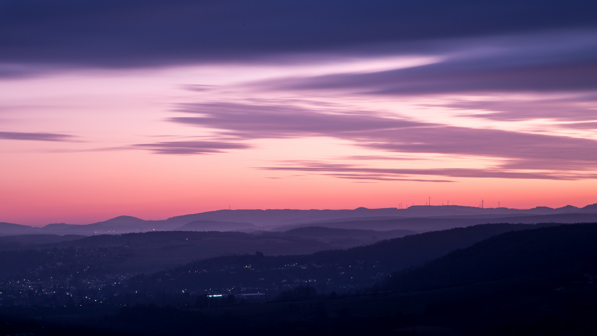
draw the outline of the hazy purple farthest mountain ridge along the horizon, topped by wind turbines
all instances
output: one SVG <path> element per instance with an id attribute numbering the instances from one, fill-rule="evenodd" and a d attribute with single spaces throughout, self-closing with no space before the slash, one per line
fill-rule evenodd
<path id="1" fill-rule="evenodd" d="M 583 216 L 584 214 L 584 216 Z M 595 215 L 595 216 L 592 216 Z M 414 230 L 417 232 L 445 230 L 467 225 L 490 222 L 516 222 L 533 224 L 538 222 L 594 222 L 597 221 L 597 203 L 584 207 L 564 206 L 558 208 L 534 207 L 532 209 L 510 209 L 507 207 L 481 208 L 472 206 L 410 206 L 406 209 L 388 207 L 381 209 L 344 210 L 298 210 L 298 209 L 245 209 L 216 210 L 189 215 L 174 216 L 158 221 L 146 221 L 133 216 L 118 216 L 103 222 L 87 225 L 65 223 L 32 227 L 0 222 L 0 234 L 106 234 L 164 230 L 203 230 L 185 227 L 190 222 L 211 222 L 205 230 L 229 231 L 243 229 L 284 231 L 295 227 L 317 226 L 333 228 L 358 228 L 362 230 Z M 236 223 L 236 224 L 231 224 Z M 241 224 L 242 223 L 242 224 Z M 238 227 L 238 228 L 235 228 Z"/>

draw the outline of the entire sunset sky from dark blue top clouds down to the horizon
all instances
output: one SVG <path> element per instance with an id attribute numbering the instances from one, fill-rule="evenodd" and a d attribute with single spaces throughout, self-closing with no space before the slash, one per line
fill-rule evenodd
<path id="1" fill-rule="evenodd" d="M 2 1 L 0 155 L 36 226 L 585 206 L 597 3 Z"/>

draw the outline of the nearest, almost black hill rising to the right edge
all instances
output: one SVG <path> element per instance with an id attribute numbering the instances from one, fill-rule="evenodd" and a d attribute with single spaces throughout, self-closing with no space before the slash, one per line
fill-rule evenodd
<path id="1" fill-rule="evenodd" d="M 392 274 L 387 288 L 417 291 L 527 275 L 568 283 L 597 274 L 596 241 L 595 223 L 507 232 Z"/>

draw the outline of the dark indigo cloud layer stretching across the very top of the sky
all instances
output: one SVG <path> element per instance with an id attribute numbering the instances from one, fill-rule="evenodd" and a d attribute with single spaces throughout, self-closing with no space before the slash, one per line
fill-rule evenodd
<path id="1" fill-rule="evenodd" d="M 0 4 L 0 63 L 118 67 L 420 53 L 430 45 L 413 42 L 595 28 L 596 14 L 590 0 L 8 0 Z"/>

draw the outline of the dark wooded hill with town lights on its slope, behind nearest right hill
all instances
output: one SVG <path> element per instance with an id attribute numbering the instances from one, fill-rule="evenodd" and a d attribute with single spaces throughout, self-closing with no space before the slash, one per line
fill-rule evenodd
<path id="1" fill-rule="evenodd" d="M 549 225 L 549 224 L 547 224 Z M 139 291 L 156 291 L 168 278 L 171 291 L 206 291 L 210 288 L 263 287 L 283 279 L 318 279 L 313 286 L 335 284 L 363 288 L 380 276 L 407 267 L 423 265 L 456 249 L 513 230 L 538 228 L 538 225 L 486 224 L 453 228 L 383 240 L 373 245 L 346 250 L 328 250 L 309 255 L 263 256 L 229 255 L 204 259 L 140 279 Z M 91 237 L 90 237 L 91 238 Z M 303 266 L 300 266 L 303 265 Z M 166 274 L 167 273 L 167 274 Z M 376 280 L 377 279 L 377 280 Z M 282 282 L 283 283 L 283 282 Z M 342 285 L 344 284 L 344 285 Z M 321 289 L 321 288 L 320 288 Z M 137 290 L 137 289 L 136 289 Z"/>

